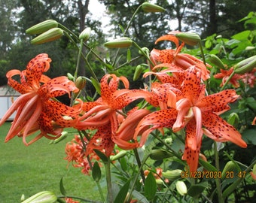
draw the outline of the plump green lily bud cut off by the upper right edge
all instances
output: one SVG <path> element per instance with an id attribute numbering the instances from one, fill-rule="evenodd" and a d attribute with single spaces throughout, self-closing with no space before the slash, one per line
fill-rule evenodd
<path id="1" fill-rule="evenodd" d="M 233 69 L 236 74 L 245 74 L 256 67 L 256 55 L 234 65 Z"/>

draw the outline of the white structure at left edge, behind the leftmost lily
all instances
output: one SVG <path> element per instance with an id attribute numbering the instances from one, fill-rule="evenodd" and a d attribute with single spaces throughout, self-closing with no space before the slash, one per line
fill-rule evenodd
<path id="1" fill-rule="evenodd" d="M 20 96 L 20 92 L 15 91 L 9 86 L 0 86 L 0 119 L 5 115 L 8 108 L 12 105 L 12 98 L 15 100 Z M 8 120 L 14 120 L 15 114 L 12 114 Z"/>

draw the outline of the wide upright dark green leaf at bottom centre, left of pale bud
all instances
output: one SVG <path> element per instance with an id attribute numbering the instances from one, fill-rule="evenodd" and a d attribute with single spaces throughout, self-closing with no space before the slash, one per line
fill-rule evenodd
<path id="1" fill-rule="evenodd" d="M 154 199 L 154 195 L 157 192 L 157 182 L 154 179 L 154 175 L 150 172 L 145 180 L 145 197 L 148 198 L 149 201 Z"/>

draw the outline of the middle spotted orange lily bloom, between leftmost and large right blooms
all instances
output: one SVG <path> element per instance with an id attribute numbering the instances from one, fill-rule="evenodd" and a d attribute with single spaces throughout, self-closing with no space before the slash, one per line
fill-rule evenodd
<path id="1" fill-rule="evenodd" d="M 124 89 L 117 89 L 119 81 L 123 82 Z M 123 108 L 137 98 L 148 96 L 143 90 L 130 90 L 126 77 L 117 77 L 114 74 L 106 74 L 101 80 L 101 97 L 96 102 L 84 102 L 84 115 L 79 119 L 76 129 L 98 129 L 87 145 L 87 155 L 93 149 L 105 150 L 106 156 L 110 156 L 117 144 L 124 149 L 133 149 L 138 144 L 128 142 L 133 136 L 125 136 L 122 129 L 117 132 L 120 115 Z M 144 112 L 145 113 L 145 112 Z M 143 114 L 143 113 L 142 113 Z M 143 114 L 144 116 L 145 114 Z M 142 117 L 143 117 L 142 116 Z M 134 122 L 134 124 L 133 124 Z M 137 119 L 123 121 L 123 125 L 130 127 L 136 125 Z"/>

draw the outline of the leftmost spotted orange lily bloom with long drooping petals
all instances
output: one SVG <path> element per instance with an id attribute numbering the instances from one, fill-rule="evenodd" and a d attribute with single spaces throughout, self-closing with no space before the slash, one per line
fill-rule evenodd
<path id="1" fill-rule="evenodd" d="M 71 108 L 56 102 L 54 97 L 66 93 L 70 96 L 71 91 L 77 92 L 78 89 L 67 77 L 50 79 L 44 75 L 43 73 L 50 68 L 50 62 L 48 55 L 41 53 L 28 63 L 26 70 L 11 70 L 6 74 L 8 85 L 22 94 L 0 121 L 1 126 L 14 111 L 17 111 L 5 138 L 6 142 L 18 135 L 23 137 L 23 143 L 28 145 L 26 137 L 38 130 L 41 133 L 29 144 L 43 136 L 49 139 L 59 138 L 62 128 L 73 126 L 77 122 L 81 105 Z M 20 83 L 12 78 L 15 75 L 20 75 Z"/>

